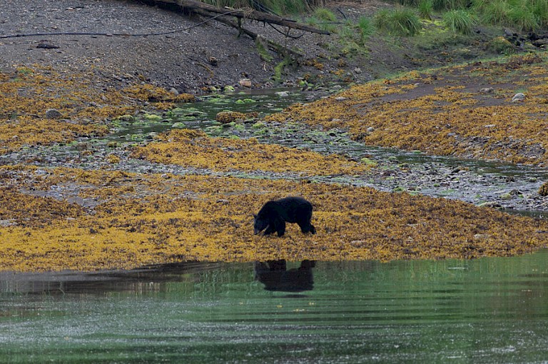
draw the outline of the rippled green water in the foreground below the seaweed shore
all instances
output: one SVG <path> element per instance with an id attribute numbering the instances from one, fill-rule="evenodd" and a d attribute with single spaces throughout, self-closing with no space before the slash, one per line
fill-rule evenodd
<path id="1" fill-rule="evenodd" d="M 0 273 L 0 363 L 546 363 L 547 260 Z"/>

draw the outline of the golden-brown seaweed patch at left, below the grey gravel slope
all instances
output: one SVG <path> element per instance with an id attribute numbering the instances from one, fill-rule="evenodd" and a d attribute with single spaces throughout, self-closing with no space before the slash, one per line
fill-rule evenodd
<path id="1" fill-rule="evenodd" d="M 0 153 L 22 146 L 68 143 L 82 136 L 104 136 L 106 119 L 131 115 L 143 101 L 170 108 L 193 96 L 173 95 L 151 85 L 98 88 L 93 74 L 61 74 L 34 66 L 0 72 Z M 49 117 L 54 111 L 56 118 Z"/>

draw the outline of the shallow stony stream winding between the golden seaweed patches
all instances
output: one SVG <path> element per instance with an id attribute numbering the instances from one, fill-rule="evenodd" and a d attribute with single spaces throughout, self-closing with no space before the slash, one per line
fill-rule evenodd
<path id="1" fill-rule="evenodd" d="M 345 131 L 323 131 L 302 123 L 264 123 L 260 119 L 248 123 L 220 125 L 215 115 L 220 111 L 257 112 L 259 116 L 283 110 L 295 102 L 308 102 L 321 95 L 298 90 L 261 90 L 255 93 L 234 93 L 204 96 L 196 103 L 181 104 L 162 115 L 139 114 L 131 120 L 114 121 L 111 134 L 103 139 L 86 140 L 69 145 L 25 148 L 0 156 L 0 163 L 30 161 L 38 166 L 73 166 L 76 168 L 116 168 L 141 173 L 201 173 L 265 178 L 299 178 L 290 173 L 215 173 L 185 166 L 161 165 L 128 158 L 127 146 L 151 141 L 157 133 L 172 128 L 200 128 L 211 136 L 257 138 L 263 143 L 309 148 L 323 154 L 339 153 L 363 163 L 375 163 L 363 176 L 323 176 L 315 181 L 370 186 L 381 191 L 407 191 L 427 196 L 455 198 L 506 209 L 509 212 L 546 216 L 548 199 L 537 191 L 548 180 L 548 170 L 509 163 L 473 161 L 460 158 L 428 156 L 418 151 L 375 148 L 352 141 Z M 81 152 L 86 149 L 88 153 Z M 117 154 L 120 163 L 110 166 L 107 154 Z"/>

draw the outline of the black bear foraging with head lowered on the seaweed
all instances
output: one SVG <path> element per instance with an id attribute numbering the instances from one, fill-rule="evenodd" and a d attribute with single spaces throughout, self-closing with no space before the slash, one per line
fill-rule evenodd
<path id="1" fill-rule="evenodd" d="M 255 215 L 253 228 L 255 235 L 261 231 L 268 235 L 274 232 L 278 236 L 285 233 L 285 222 L 297 223 L 303 233 L 316 233 L 316 229 L 310 223 L 312 218 L 312 203 L 302 197 L 286 197 L 280 200 L 268 201 Z"/>

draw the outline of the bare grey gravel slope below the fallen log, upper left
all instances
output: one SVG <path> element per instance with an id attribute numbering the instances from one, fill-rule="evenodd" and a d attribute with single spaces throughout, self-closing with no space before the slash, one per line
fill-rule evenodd
<path id="1" fill-rule="evenodd" d="M 93 71 L 100 84 L 147 81 L 196 91 L 208 85 L 237 85 L 243 78 L 263 86 L 271 81 L 276 64 L 276 59 L 261 60 L 254 41 L 238 38 L 235 29 L 215 21 L 196 26 L 204 19 L 135 1 L 9 0 L 1 6 L 0 19 L 0 36 L 43 34 L 0 39 L 4 71 L 41 64 L 74 73 Z M 262 24 L 245 25 L 260 34 L 275 33 Z M 170 31 L 158 36 L 45 35 Z M 313 44 L 322 38 L 305 34 L 298 44 L 314 57 L 319 47 Z"/>

